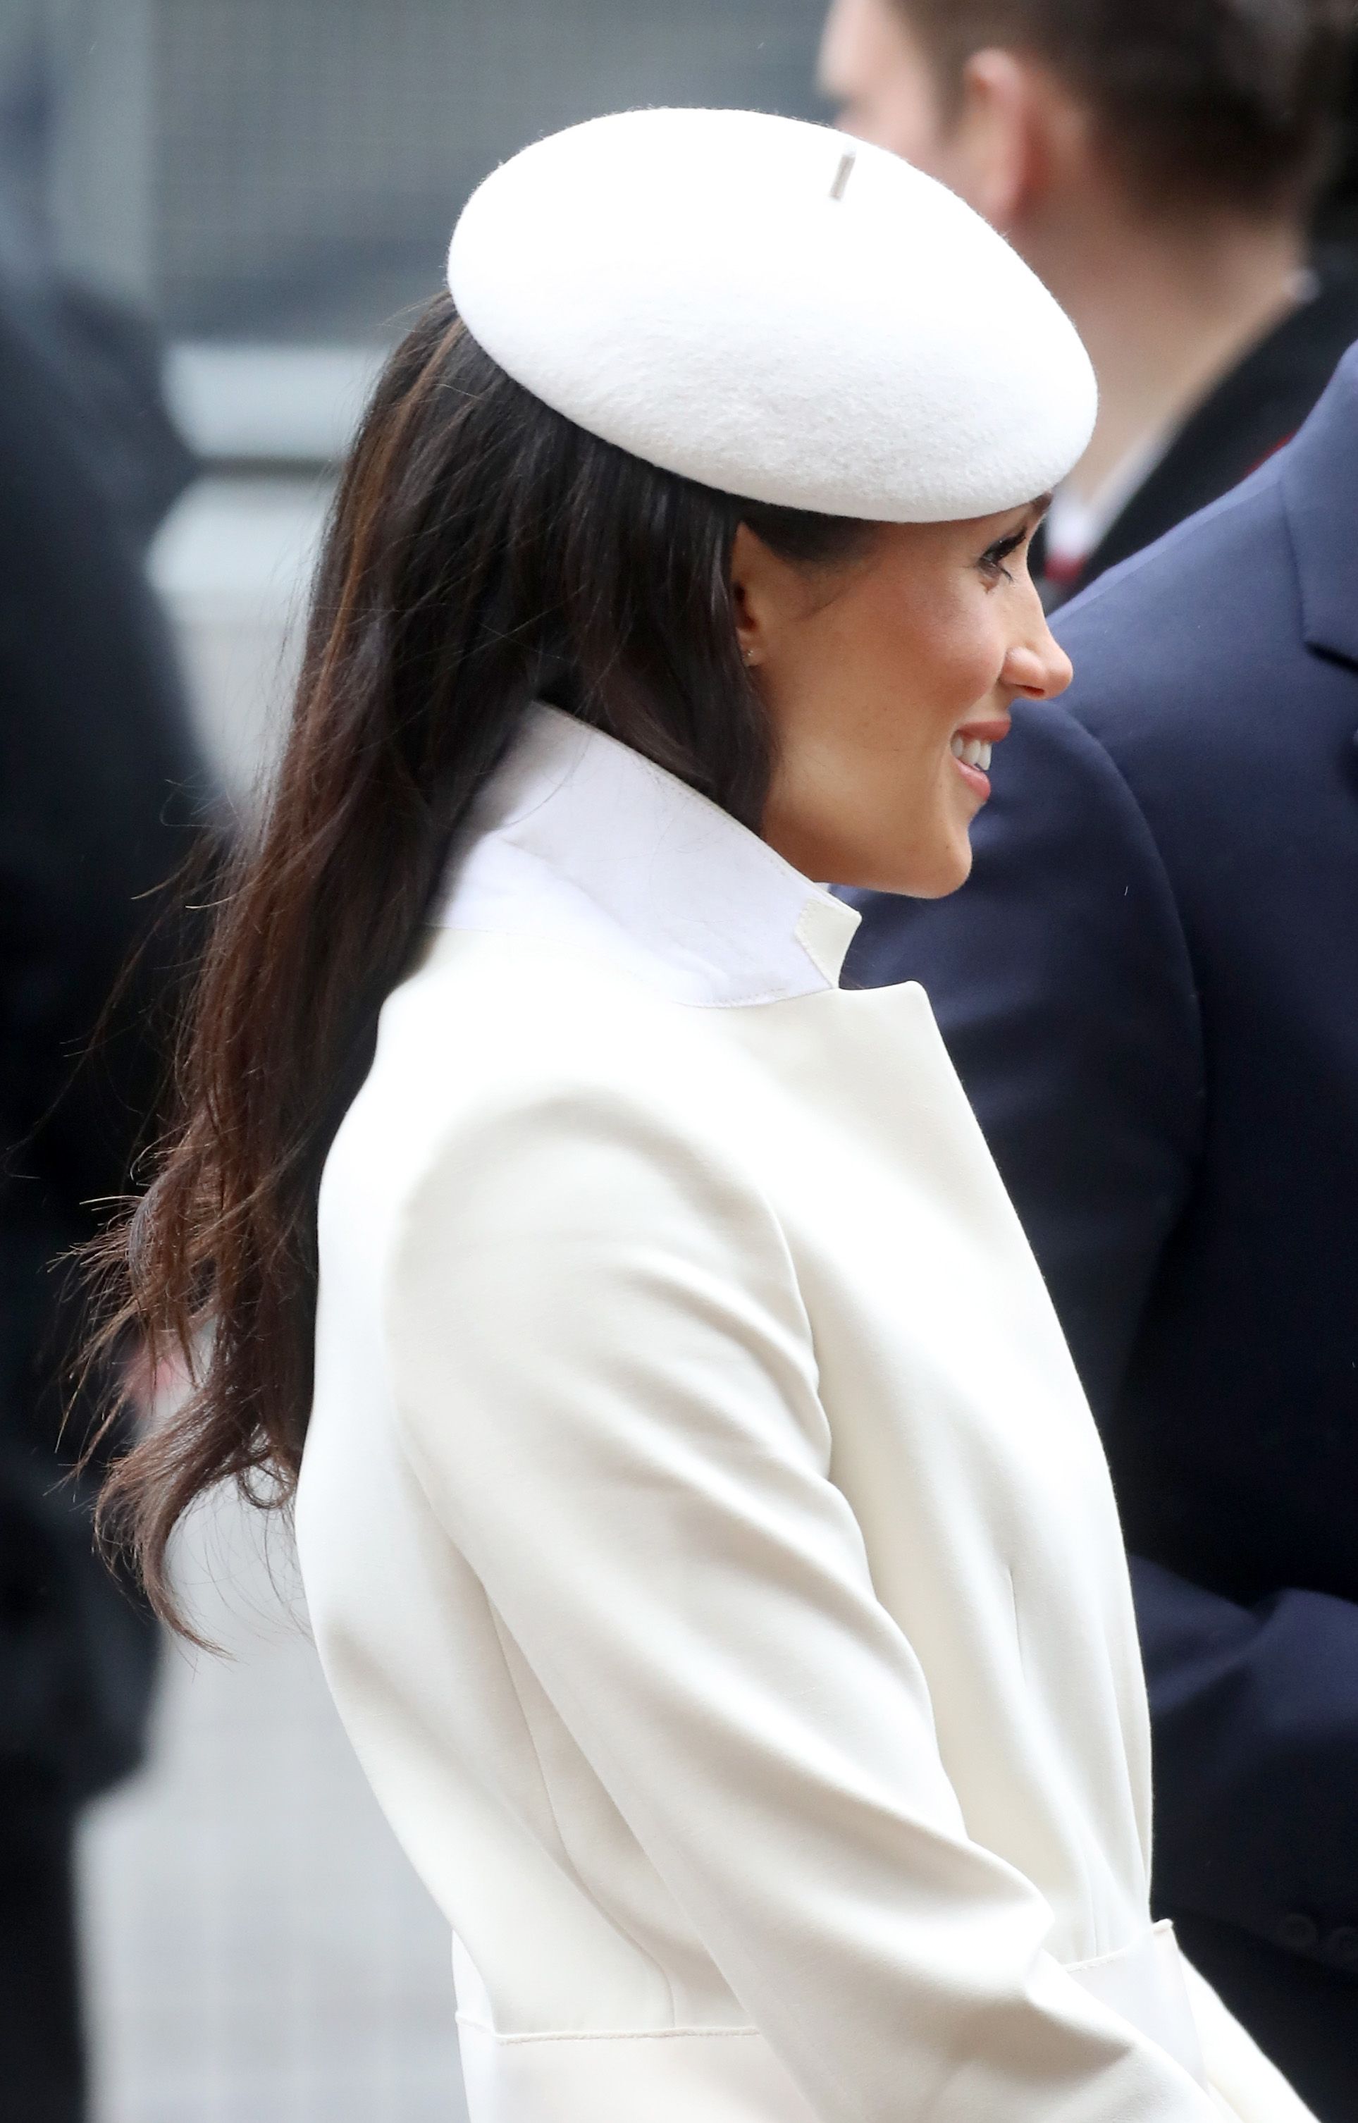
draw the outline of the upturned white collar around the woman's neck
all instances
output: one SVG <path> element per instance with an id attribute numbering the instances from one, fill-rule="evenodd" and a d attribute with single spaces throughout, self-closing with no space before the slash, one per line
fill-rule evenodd
<path id="1" fill-rule="evenodd" d="M 639 752 L 535 707 L 435 921 L 607 955 L 677 1002 L 838 987 L 857 915 Z"/>

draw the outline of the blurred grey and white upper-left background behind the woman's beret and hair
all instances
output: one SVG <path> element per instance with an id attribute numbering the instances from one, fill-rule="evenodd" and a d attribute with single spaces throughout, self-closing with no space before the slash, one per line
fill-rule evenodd
<path id="1" fill-rule="evenodd" d="M 204 478 L 153 571 L 233 794 L 382 348 L 537 134 L 641 102 L 813 115 L 819 0 L 4 0 L 4 251 L 149 314 Z"/>

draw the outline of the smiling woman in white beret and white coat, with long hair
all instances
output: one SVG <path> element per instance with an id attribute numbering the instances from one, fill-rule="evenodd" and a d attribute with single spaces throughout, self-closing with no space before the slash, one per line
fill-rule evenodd
<path id="1" fill-rule="evenodd" d="M 301 1465 L 475 2123 L 1296 2119 L 1150 1926 L 1040 1276 L 923 996 L 838 991 L 806 881 L 963 881 L 1067 675 L 1023 548 L 1089 363 L 948 193 L 736 113 L 516 157 L 450 287 L 134 1223 L 132 1316 L 214 1331 L 112 1505 L 166 1605 L 180 1509 Z"/>

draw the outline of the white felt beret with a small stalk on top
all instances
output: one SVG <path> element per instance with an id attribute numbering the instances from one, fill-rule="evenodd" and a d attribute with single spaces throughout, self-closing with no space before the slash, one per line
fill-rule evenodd
<path id="1" fill-rule="evenodd" d="M 828 125 L 626 110 L 494 170 L 448 287 L 592 435 L 749 501 L 944 522 L 1065 478 L 1095 420 L 1074 325 L 944 185 Z"/>

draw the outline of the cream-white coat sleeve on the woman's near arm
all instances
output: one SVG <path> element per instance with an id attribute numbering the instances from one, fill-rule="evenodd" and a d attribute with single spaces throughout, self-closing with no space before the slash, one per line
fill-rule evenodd
<path id="1" fill-rule="evenodd" d="M 1216 2115 L 968 1841 L 753 1189 L 620 1098 L 509 1108 L 414 1189 L 386 1333 L 437 1518 L 815 2115 Z"/>

